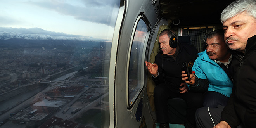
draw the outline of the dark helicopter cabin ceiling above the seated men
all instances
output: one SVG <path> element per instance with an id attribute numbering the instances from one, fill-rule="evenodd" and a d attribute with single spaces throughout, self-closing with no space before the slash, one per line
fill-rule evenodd
<path id="1" fill-rule="evenodd" d="M 179 26 L 221 24 L 220 14 L 234 0 L 159 0 L 161 14 Z"/>

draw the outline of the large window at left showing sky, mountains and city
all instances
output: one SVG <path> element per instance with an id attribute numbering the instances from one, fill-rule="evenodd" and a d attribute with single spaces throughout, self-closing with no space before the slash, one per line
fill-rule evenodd
<path id="1" fill-rule="evenodd" d="M 109 127 L 120 0 L 0 4 L 0 126 Z"/>

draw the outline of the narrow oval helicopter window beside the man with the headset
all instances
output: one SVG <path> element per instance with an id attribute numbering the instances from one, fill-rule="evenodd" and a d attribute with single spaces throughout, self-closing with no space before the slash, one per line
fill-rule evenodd
<path id="1" fill-rule="evenodd" d="M 130 50 L 128 69 L 129 106 L 132 106 L 144 86 L 144 60 L 149 30 L 149 26 L 143 19 L 139 19 Z"/>

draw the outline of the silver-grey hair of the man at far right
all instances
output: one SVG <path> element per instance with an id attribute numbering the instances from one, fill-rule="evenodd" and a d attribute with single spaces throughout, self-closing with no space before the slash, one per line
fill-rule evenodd
<path id="1" fill-rule="evenodd" d="M 223 23 L 244 11 L 247 12 L 249 16 L 256 19 L 256 0 L 236 0 L 230 3 L 230 5 L 222 11 L 220 20 Z"/>

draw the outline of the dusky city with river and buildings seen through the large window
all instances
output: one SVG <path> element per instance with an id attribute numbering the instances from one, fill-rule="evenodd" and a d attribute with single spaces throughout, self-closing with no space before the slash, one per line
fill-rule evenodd
<path id="1" fill-rule="evenodd" d="M 0 40 L 0 127 L 99 128 L 109 113 L 110 45 Z"/>

